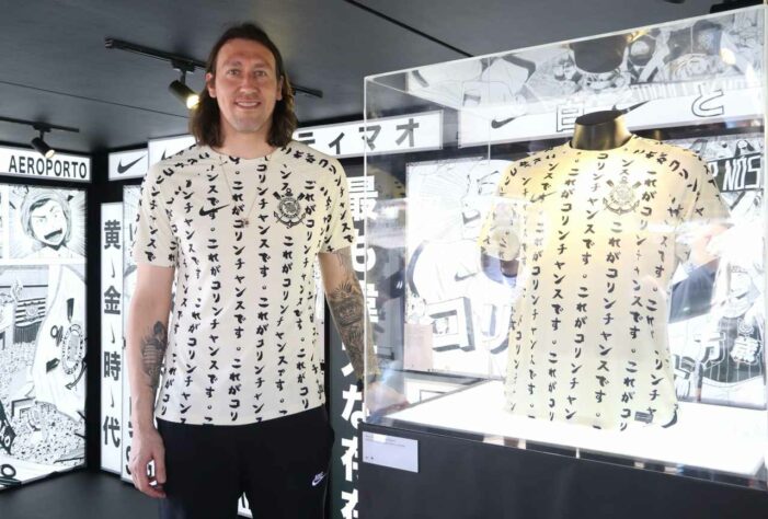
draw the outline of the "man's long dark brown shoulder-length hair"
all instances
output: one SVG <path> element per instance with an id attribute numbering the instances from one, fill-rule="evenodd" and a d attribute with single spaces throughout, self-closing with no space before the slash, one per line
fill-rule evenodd
<path id="1" fill-rule="evenodd" d="M 230 39 L 250 39 L 265 46 L 275 58 L 275 68 L 277 69 L 277 80 L 283 78 L 282 94 L 283 99 L 275 103 L 275 111 L 272 113 L 272 126 L 267 136 L 267 143 L 277 148 L 282 148 L 290 142 L 294 130 L 298 125 L 296 115 L 294 114 L 294 90 L 290 86 L 288 74 L 283 65 L 283 56 L 277 49 L 277 46 L 270 39 L 266 33 L 252 23 L 243 23 L 228 28 L 221 37 L 216 42 L 214 48 L 208 56 L 208 62 L 205 71 L 216 78 L 216 59 L 219 56 L 221 47 Z M 211 79 L 211 81 L 214 80 Z M 195 136 L 200 145 L 220 148 L 223 145 L 223 135 L 221 132 L 221 112 L 216 99 L 208 94 L 208 89 L 203 89 L 199 103 L 195 108 L 190 119 L 190 131 Z"/>

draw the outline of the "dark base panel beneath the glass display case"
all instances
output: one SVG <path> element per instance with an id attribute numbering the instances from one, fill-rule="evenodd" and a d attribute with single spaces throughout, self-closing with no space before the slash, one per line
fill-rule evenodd
<path id="1" fill-rule="evenodd" d="M 764 519 L 768 492 L 633 466 L 360 424 L 366 432 L 419 442 L 417 472 L 359 455 L 359 517 L 365 519 L 509 518 Z M 718 446 L 712 446 L 717 449 Z"/>

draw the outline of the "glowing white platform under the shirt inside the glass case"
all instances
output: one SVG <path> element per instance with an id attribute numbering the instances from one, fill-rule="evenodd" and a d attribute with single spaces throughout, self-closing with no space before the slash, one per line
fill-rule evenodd
<path id="1" fill-rule="evenodd" d="M 388 415 L 393 425 L 445 428 L 535 441 L 571 449 L 574 455 L 606 454 L 615 461 L 664 464 L 667 471 L 697 468 L 743 480 L 765 471 L 768 420 L 765 410 L 680 402 L 672 427 L 643 426 L 628 430 L 529 419 L 506 411 L 504 384 L 483 381 L 465 391 L 442 395 Z M 411 425 L 404 425 L 411 428 Z M 727 438 L 723 442 L 722 438 Z M 718 446 L 712 448 L 712 446 Z M 575 454 L 577 452 L 577 454 Z M 767 514 L 768 515 L 768 514 Z"/>

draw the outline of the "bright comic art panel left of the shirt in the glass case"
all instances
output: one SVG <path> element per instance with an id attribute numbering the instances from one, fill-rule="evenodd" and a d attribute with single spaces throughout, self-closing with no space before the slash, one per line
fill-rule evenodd
<path id="1" fill-rule="evenodd" d="M 408 369 L 504 373 L 514 285 L 478 262 L 478 237 L 507 161 L 463 159 L 408 166 Z"/>

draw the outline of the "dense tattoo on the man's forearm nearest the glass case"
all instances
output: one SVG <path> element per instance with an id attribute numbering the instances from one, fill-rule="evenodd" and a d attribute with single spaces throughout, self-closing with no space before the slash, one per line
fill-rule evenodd
<path id="1" fill-rule="evenodd" d="M 378 373 L 371 342 L 371 328 L 366 314 L 365 297 L 352 267 L 352 257 L 348 251 L 334 253 L 334 255 L 344 272 L 344 277 L 328 295 L 328 302 L 339 334 L 342 336 L 344 346 L 346 346 L 346 353 L 349 356 L 355 374 L 362 379 L 365 376 L 366 349 L 368 350 L 369 364 L 374 362 L 368 366 L 368 371 Z M 366 327 L 368 328 L 368 334 L 365 333 Z"/>

